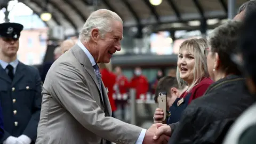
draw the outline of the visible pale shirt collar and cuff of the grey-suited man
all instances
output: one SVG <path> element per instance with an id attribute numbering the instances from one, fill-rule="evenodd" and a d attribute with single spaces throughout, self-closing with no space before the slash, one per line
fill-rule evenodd
<path id="1" fill-rule="evenodd" d="M 96 65 L 96 62 L 94 60 L 94 58 L 92 57 L 92 54 L 86 49 L 86 47 L 81 43 L 81 41 L 77 41 L 77 45 L 79 47 L 81 47 L 81 49 L 84 51 L 84 53 L 87 55 L 87 57 L 89 58 L 89 60 L 92 63 L 92 66 Z M 142 129 L 142 131 L 140 132 L 139 138 L 137 139 L 137 141 L 135 142 L 135 144 L 141 144 L 144 140 L 145 134 L 146 134 L 146 129 Z"/>

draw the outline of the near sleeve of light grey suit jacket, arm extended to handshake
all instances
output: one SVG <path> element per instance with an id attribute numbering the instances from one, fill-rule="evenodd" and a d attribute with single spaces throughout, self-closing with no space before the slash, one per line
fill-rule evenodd
<path id="1" fill-rule="evenodd" d="M 106 117 L 93 97 L 100 97 L 90 92 L 84 76 L 73 66 L 59 65 L 50 78 L 51 95 L 65 107 L 74 118 L 87 130 L 103 139 L 115 143 L 135 143 L 141 128 L 124 123 L 113 117 Z M 93 83 L 94 84 L 94 83 Z"/>

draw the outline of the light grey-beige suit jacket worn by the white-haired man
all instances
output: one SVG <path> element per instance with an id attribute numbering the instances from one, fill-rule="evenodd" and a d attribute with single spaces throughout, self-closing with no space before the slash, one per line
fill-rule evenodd
<path id="1" fill-rule="evenodd" d="M 141 128 L 111 116 L 92 63 L 78 45 L 57 59 L 43 84 L 37 144 L 135 143 Z M 104 111 L 106 111 L 106 114 Z"/>

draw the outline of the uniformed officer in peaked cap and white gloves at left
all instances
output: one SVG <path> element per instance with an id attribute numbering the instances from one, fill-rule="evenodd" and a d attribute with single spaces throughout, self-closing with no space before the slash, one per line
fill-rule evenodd
<path id="1" fill-rule="evenodd" d="M 5 134 L 1 143 L 35 143 L 41 111 L 41 78 L 17 59 L 19 23 L 0 24 L 0 101 Z"/>

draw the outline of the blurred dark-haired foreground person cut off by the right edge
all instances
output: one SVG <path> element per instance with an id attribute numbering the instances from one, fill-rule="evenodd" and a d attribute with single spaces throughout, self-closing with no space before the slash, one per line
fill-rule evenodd
<path id="1" fill-rule="evenodd" d="M 255 5 L 256 6 L 256 5 Z M 231 57 L 243 70 L 250 93 L 256 99 L 256 8 L 245 16 L 238 39 L 238 54 Z M 244 111 L 229 130 L 224 144 L 254 144 L 256 141 L 256 103 Z"/>

